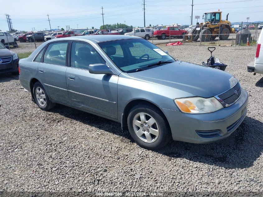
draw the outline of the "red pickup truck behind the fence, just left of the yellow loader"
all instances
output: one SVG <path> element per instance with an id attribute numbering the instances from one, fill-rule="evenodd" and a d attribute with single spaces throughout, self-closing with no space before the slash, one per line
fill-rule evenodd
<path id="1" fill-rule="evenodd" d="M 188 31 L 186 30 L 180 30 L 178 27 L 174 26 L 167 26 L 166 28 L 163 28 L 161 30 L 155 30 L 153 32 L 153 36 L 157 37 L 157 39 L 165 40 L 166 37 L 179 37 L 183 38 L 185 34 L 188 34 Z"/>

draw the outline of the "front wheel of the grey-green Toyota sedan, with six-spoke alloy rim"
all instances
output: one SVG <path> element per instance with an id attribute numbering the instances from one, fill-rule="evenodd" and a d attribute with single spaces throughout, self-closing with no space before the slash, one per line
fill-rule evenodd
<path id="1" fill-rule="evenodd" d="M 145 118 L 145 123 L 140 117 Z M 137 125 L 139 126 L 133 124 L 135 121 L 137 121 Z M 140 121 L 142 124 L 140 124 Z M 150 150 L 160 149 L 171 141 L 171 129 L 169 124 L 157 107 L 143 103 L 134 106 L 129 111 L 127 123 L 132 138 L 143 148 Z M 143 126 L 141 127 L 141 125 Z M 138 130 L 140 134 L 137 135 L 135 130 Z"/>

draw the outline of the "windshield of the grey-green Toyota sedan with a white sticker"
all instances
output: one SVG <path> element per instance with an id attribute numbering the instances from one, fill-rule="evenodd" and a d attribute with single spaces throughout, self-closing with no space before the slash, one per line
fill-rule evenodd
<path id="1" fill-rule="evenodd" d="M 163 65 L 162 62 L 175 61 L 167 53 L 144 39 L 114 40 L 100 42 L 98 45 L 125 73 L 150 69 L 153 68 L 152 65 Z"/>

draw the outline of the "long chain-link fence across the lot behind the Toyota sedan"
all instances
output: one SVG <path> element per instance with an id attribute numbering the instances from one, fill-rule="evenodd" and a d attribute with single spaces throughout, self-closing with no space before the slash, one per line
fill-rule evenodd
<path id="1" fill-rule="evenodd" d="M 252 22 L 234 22 L 231 27 L 227 24 L 211 24 L 193 26 L 178 26 L 175 24 L 151 26 L 151 27 L 135 27 L 129 30 L 129 35 L 142 37 L 155 45 L 181 42 L 183 45 L 255 45 L 256 40 L 262 30 L 259 28 L 259 23 Z M 211 28 L 213 27 L 213 29 Z M 131 31 L 132 30 L 132 31 Z M 212 30 L 212 31 L 211 31 Z M 23 32 L 20 34 L 10 34 L 8 32 L 0 33 L 1 42 L 3 45 L 21 48 L 34 48 L 45 42 L 45 36 L 49 39 L 54 39 L 54 32 Z M 68 31 L 65 31 L 65 34 Z M 92 30 L 92 33 L 96 31 Z M 122 32 L 122 33 L 121 33 Z M 63 34 L 63 33 L 61 33 Z M 106 34 L 124 34 L 121 29 L 109 29 Z M 75 34 L 71 36 L 76 36 Z M 87 35 L 88 36 L 88 35 Z M 12 49 L 12 48 L 10 48 Z"/>

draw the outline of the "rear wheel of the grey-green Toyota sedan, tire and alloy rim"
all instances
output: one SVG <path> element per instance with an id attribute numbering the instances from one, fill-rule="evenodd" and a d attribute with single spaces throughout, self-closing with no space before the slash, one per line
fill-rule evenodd
<path id="1" fill-rule="evenodd" d="M 34 95 L 36 104 L 39 106 L 41 110 L 48 111 L 55 106 L 55 103 L 50 101 L 45 91 L 45 88 L 41 85 L 40 82 L 35 82 L 33 86 L 33 95 Z"/>

